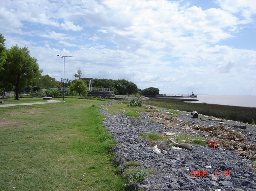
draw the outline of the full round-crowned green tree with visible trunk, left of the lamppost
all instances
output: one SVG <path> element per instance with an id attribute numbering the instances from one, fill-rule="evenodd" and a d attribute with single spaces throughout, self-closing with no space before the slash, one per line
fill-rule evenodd
<path id="1" fill-rule="evenodd" d="M 19 99 L 19 93 L 34 78 L 40 75 L 37 59 L 31 58 L 26 46 L 19 48 L 17 45 L 7 50 L 6 63 L 3 65 L 3 83 L 7 86 L 14 85 L 15 99 Z"/>

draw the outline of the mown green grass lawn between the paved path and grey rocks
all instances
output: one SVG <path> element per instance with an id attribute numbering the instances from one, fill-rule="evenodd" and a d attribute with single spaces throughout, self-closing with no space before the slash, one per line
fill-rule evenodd
<path id="1" fill-rule="evenodd" d="M 96 107 L 104 102 L 0 108 L 0 190 L 124 190 Z"/>

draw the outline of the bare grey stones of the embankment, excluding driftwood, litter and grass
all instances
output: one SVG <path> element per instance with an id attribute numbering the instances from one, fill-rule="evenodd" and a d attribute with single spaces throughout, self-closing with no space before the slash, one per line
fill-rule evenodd
<path id="1" fill-rule="evenodd" d="M 252 161 L 247 159 L 241 160 L 241 157 L 237 155 L 235 146 L 233 148 L 230 146 L 230 150 L 223 151 L 209 148 L 208 145 L 193 145 L 192 151 L 186 149 L 177 151 L 171 150 L 168 146 L 169 143 L 156 141 L 154 145 L 161 145 L 162 149 L 165 148 L 165 151 L 162 152 L 164 154 L 158 155 L 153 152 L 152 148 L 154 145 L 150 146 L 149 142 L 146 139 L 141 139 L 139 135 L 149 133 L 164 135 L 164 132 L 191 133 L 192 130 L 199 130 L 180 129 L 181 125 L 178 128 L 164 126 L 149 120 L 151 114 L 145 115 L 142 113 L 143 117 L 128 118 L 124 115 L 124 112 L 111 115 L 102 110 L 102 113 L 106 116 L 104 120 L 105 127 L 110 129 L 109 133 L 114 135 L 113 139 L 117 141 L 117 145 L 112 148 L 112 151 L 114 151 L 114 162 L 119 166 L 119 169 L 124 171 L 126 168 L 124 163 L 126 161 L 134 161 L 141 164 L 139 168 L 153 172 L 149 173 L 141 183 L 127 185 L 126 187 L 129 189 L 138 189 L 138 187 L 144 190 L 194 191 L 256 189 L 256 172 L 251 170 Z M 179 118 L 177 119 L 179 124 L 184 124 L 184 121 L 186 121 L 187 124 L 198 124 L 199 127 L 202 125 L 207 127 L 209 125 L 216 125 L 216 121 L 192 119 L 190 115 L 186 114 L 187 112 L 180 111 Z M 134 125 L 132 125 L 132 121 Z M 225 124 L 229 126 L 240 125 L 239 122 L 235 121 L 225 121 Z M 239 131 L 242 130 L 240 129 Z M 249 135 L 249 132 L 255 131 L 250 125 L 247 125 L 247 128 L 243 131 L 248 132 L 251 140 L 256 140 L 254 134 Z M 251 143 L 255 144 L 253 141 Z M 207 171 L 207 176 L 192 177 L 192 172 L 196 170 Z M 215 170 L 218 170 L 219 173 L 216 174 Z M 230 177 L 223 177 L 224 170 L 230 171 Z"/>

